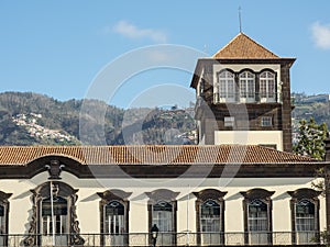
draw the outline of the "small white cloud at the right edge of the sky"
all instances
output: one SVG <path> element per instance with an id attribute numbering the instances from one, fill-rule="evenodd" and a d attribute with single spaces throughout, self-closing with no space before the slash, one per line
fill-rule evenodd
<path id="1" fill-rule="evenodd" d="M 330 25 L 322 25 L 315 22 L 311 25 L 312 41 L 317 47 L 322 49 L 330 49 Z"/>

